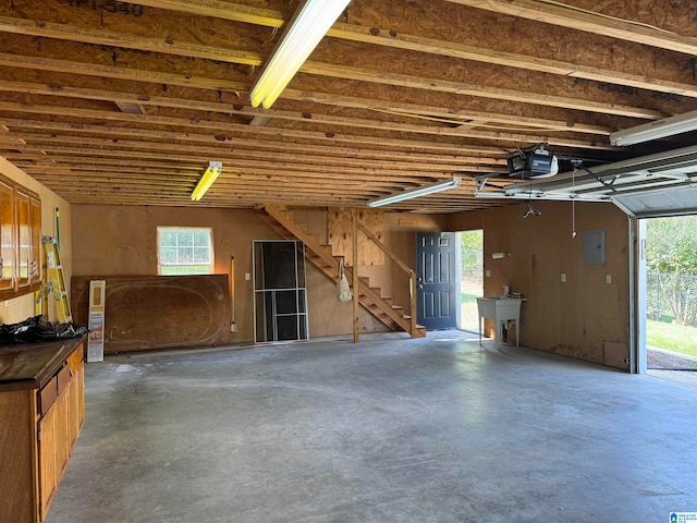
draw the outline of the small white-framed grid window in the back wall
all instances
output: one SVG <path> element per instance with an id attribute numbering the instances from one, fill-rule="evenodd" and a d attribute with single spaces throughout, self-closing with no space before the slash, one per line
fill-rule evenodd
<path id="1" fill-rule="evenodd" d="M 158 227 L 158 275 L 212 275 L 212 230 L 205 227 Z"/>

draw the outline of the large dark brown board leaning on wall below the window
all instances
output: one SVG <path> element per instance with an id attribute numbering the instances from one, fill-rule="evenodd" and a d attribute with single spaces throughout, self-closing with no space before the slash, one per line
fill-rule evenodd
<path id="1" fill-rule="evenodd" d="M 228 275 L 73 277 L 75 323 L 90 280 L 106 280 L 105 353 L 230 343 Z"/>

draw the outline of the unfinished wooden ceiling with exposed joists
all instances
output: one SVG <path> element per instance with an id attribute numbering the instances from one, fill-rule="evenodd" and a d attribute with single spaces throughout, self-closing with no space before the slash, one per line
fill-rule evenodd
<path id="1" fill-rule="evenodd" d="M 0 156 L 70 203 L 463 211 L 509 151 L 614 160 L 697 109 L 690 0 L 353 0 L 269 109 L 248 94 L 297 1 L 1 0 Z M 685 145 L 674 142 L 671 146 Z M 209 161 L 223 171 L 200 202 Z"/>

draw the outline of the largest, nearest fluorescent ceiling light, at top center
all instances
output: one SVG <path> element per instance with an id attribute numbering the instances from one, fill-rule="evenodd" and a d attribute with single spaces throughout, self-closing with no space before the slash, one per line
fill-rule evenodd
<path id="1" fill-rule="evenodd" d="M 261 77 L 252 89 L 254 107 L 273 105 L 351 0 L 306 0 L 291 20 Z"/>

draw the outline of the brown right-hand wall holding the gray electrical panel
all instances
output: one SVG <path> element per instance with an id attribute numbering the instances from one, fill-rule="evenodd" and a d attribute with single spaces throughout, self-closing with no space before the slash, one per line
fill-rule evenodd
<path id="1" fill-rule="evenodd" d="M 501 285 L 526 297 L 521 342 L 534 349 L 628 368 L 628 221 L 614 205 L 535 202 L 540 217 L 523 218 L 527 204 L 451 216 L 452 231 L 485 230 L 485 295 Z M 583 263 L 583 231 L 606 231 L 606 265 Z M 505 259 L 491 253 L 506 252 Z M 561 275 L 566 282 L 561 282 Z M 611 283 L 607 283 L 610 276 Z M 489 325 L 490 328 L 490 325 Z"/>

